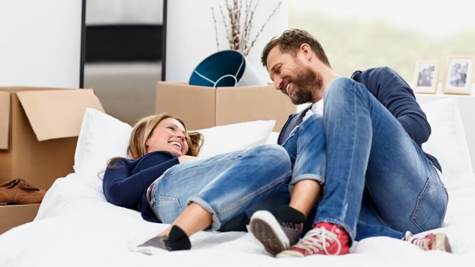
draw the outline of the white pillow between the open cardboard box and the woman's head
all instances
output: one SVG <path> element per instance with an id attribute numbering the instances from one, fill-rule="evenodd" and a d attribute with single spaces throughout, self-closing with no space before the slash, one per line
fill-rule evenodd
<path id="1" fill-rule="evenodd" d="M 74 154 L 74 171 L 97 179 L 112 157 L 127 157 L 132 127 L 108 114 L 86 108 Z"/>

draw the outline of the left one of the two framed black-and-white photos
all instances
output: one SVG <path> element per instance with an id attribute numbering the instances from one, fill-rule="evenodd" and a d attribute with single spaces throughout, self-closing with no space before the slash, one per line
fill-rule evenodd
<path id="1" fill-rule="evenodd" d="M 413 80 L 414 93 L 435 94 L 437 91 L 439 62 L 418 60 Z"/>

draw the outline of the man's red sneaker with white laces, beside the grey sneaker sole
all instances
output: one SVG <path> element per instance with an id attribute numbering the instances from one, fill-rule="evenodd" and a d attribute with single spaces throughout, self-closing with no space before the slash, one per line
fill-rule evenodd
<path id="1" fill-rule="evenodd" d="M 315 254 L 344 255 L 349 253 L 349 235 L 340 226 L 318 223 L 290 249 L 276 255 L 276 258 L 305 257 Z"/>

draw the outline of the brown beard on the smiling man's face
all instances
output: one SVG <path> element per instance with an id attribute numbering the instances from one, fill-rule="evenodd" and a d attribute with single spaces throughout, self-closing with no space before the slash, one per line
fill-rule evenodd
<path id="1" fill-rule="evenodd" d="M 300 69 L 300 73 L 297 73 L 297 75 L 298 78 L 292 79 L 294 90 L 289 95 L 290 101 L 296 105 L 313 102 L 314 93 L 322 90 L 322 75 L 304 67 Z"/>

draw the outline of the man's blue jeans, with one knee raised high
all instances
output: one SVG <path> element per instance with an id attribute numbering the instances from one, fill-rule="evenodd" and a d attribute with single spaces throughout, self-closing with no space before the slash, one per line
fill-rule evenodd
<path id="1" fill-rule="evenodd" d="M 352 240 L 440 227 L 448 195 L 432 163 L 367 88 L 348 78 L 324 93 L 327 172 L 314 223 Z"/>

